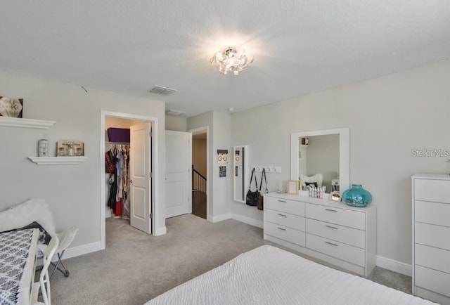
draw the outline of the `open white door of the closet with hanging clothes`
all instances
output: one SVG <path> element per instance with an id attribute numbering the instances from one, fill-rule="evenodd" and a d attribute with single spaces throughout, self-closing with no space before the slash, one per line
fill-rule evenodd
<path id="1" fill-rule="evenodd" d="M 151 124 L 130 127 L 130 224 L 151 234 Z"/>

